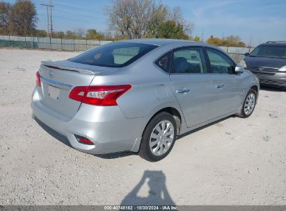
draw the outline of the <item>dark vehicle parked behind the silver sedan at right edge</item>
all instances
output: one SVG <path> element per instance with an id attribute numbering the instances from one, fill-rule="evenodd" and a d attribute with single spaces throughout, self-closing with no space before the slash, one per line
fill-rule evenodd
<path id="1" fill-rule="evenodd" d="M 246 53 L 240 65 L 259 78 L 261 85 L 286 87 L 286 41 L 269 41 Z"/>

